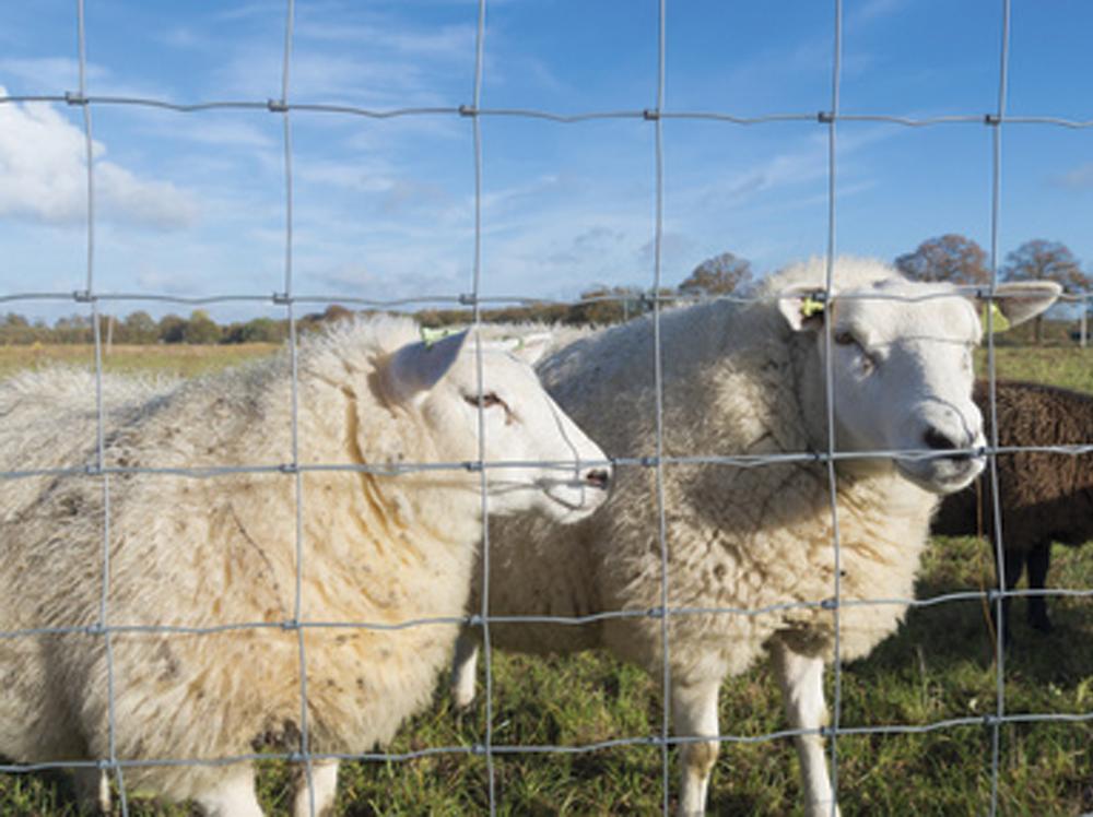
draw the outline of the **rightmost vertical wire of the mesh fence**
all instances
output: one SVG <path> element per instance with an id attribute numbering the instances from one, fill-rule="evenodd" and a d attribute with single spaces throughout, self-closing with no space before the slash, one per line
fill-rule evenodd
<path id="1" fill-rule="evenodd" d="M 1006 715 L 1006 558 L 1002 545 L 1002 510 L 998 496 L 998 403 L 997 370 L 995 359 L 995 293 L 998 288 L 998 247 L 1002 201 L 1002 118 L 1006 116 L 1006 95 L 1010 63 L 1010 0 L 1001 0 L 1001 32 L 998 66 L 998 107 L 991 130 L 990 174 L 990 298 L 986 310 L 987 332 L 987 390 L 990 413 L 990 469 L 991 508 L 995 522 L 995 576 L 998 594 L 995 597 L 995 718 L 990 722 L 990 815 L 998 814 L 998 788 L 1001 768 L 1001 729 Z"/>

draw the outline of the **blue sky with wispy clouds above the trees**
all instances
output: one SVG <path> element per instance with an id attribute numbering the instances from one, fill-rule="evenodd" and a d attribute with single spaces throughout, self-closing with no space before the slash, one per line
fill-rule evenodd
<path id="1" fill-rule="evenodd" d="M 669 0 L 666 110 L 830 108 L 833 3 Z M 1001 0 L 845 0 L 844 114 L 997 108 Z M 0 86 L 78 87 L 74 0 L 7 3 Z M 87 93 L 178 104 L 281 95 L 283 2 L 86 0 Z M 656 0 L 491 0 L 482 106 L 636 111 L 657 94 Z M 299 0 L 289 98 L 375 110 L 472 100 L 474 0 Z M 1093 119 L 1093 5 L 1014 0 L 1008 114 Z M 101 292 L 200 297 L 283 288 L 281 117 L 93 106 Z M 84 286 L 81 111 L 0 104 L 0 295 Z M 575 298 L 653 282 L 654 127 L 484 117 L 482 291 Z M 292 115 L 294 289 L 361 298 L 471 287 L 471 122 Z M 956 232 L 989 247 L 991 132 L 838 127 L 837 247 L 888 260 Z M 827 134 L 815 121 L 663 122 L 663 282 L 733 251 L 759 272 L 822 253 Z M 1066 242 L 1093 269 L 1093 129 L 1002 131 L 1000 248 Z M 32 316 L 74 304 L 9 305 Z M 120 313 L 186 306 L 107 305 Z M 230 304 L 218 318 L 278 313 Z"/>

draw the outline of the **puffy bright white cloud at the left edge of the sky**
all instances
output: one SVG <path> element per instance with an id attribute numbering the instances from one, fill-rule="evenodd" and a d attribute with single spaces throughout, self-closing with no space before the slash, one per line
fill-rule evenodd
<path id="1" fill-rule="evenodd" d="M 5 92 L 0 88 L 0 96 Z M 168 181 L 143 179 L 103 158 L 94 144 L 96 205 L 120 224 L 177 229 L 198 217 L 193 197 Z M 86 217 L 84 131 L 54 106 L 0 105 L 0 215 L 54 225 Z"/>

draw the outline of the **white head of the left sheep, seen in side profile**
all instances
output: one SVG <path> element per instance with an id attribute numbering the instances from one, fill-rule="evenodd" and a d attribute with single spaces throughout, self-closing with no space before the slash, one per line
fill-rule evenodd
<path id="1" fill-rule="evenodd" d="M 531 368 L 545 344 L 483 341 L 480 382 L 479 342 L 468 334 L 396 352 L 387 381 L 397 399 L 422 417 L 445 461 L 477 461 L 481 433 L 485 462 L 502 464 L 487 469 L 491 513 L 539 510 L 564 522 L 587 517 L 607 498 L 611 467 Z M 480 490 L 478 474 L 466 475 L 465 487 Z"/>

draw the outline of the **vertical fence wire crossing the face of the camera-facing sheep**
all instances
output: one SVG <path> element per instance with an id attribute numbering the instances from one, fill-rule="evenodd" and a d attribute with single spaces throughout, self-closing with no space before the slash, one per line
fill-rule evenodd
<path id="1" fill-rule="evenodd" d="M 834 692 L 832 700 L 831 727 L 831 815 L 838 814 L 838 730 L 839 719 L 843 711 L 843 656 L 842 656 L 842 634 L 841 605 L 843 603 L 842 585 L 842 540 L 838 526 L 838 485 L 835 473 L 835 368 L 832 360 L 834 320 L 830 311 L 832 295 L 834 294 L 835 279 L 835 248 L 836 248 L 836 200 L 837 200 L 837 161 L 838 161 L 838 103 L 839 87 L 843 70 L 843 0 L 835 0 L 834 7 L 834 33 L 832 35 L 832 69 L 831 69 L 831 111 L 827 120 L 827 251 L 824 259 L 824 304 L 828 307 L 827 320 L 824 321 L 823 344 L 824 344 L 824 410 L 826 411 L 827 425 L 827 492 L 831 504 L 831 535 L 832 547 L 834 548 L 834 602 L 832 604 L 832 620 L 835 627 L 835 660 L 832 665 L 834 676 Z M 821 730 L 821 734 L 823 730 Z"/>

